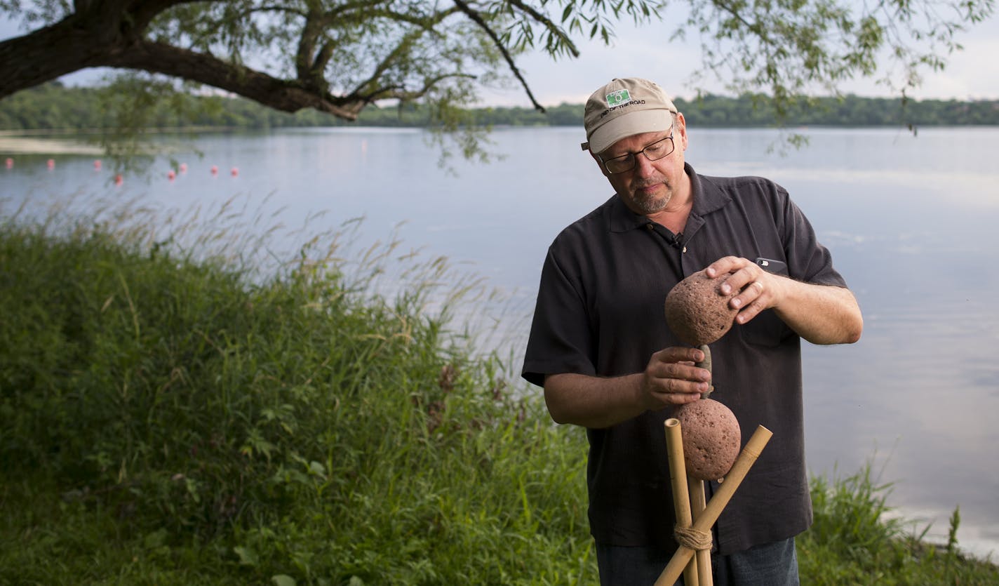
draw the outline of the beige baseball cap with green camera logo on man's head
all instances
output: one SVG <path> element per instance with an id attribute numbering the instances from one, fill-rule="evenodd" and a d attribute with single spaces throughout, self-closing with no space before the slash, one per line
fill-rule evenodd
<path id="1" fill-rule="evenodd" d="M 672 127 L 676 106 L 655 83 L 627 77 L 613 79 L 586 100 L 582 123 L 586 128 L 583 150 L 600 153 L 618 140 Z"/>

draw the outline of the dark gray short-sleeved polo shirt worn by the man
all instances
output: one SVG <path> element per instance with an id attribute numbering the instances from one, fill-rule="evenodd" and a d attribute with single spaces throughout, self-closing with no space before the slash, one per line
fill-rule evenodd
<path id="1" fill-rule="evenodd" d="M 682 343 L 663 317 L 666 293 L 723 256 L 784 261 L 789 276 L 845 286 L 829 252 L 787 192 L 759 177 L 707 177 L 686 165 L 693 208 L 673 235 L 615 195 L 565 228 L 548 248 L 523 377 L 619 376 Z M 711 344 L 714 393 L 739 420 L 744 445 L 757 425 L 773 437 L 718 520 L 722 554 L 786 539 L 811 524 L 804 461 L 800 339 L 772 310 Z M 587 429 L 589 523 L 609 545 L 672 540 L 673 504 L 662 423 L 669 409 Z M 708 498 L 711 489 L 708 487 Z"/>

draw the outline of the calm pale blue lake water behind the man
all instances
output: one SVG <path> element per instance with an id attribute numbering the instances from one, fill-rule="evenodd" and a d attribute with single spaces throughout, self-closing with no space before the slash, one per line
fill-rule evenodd
<path id="1" fill-rule="evenodd" d="M 999 128 L 801 132 L 808 147 L 779 152 L 776 131 L 692 128 L 686 159 L 786 187 L 863 309 L 859 343 L 804 345 L 809 467 L 842 477 L 870 462 L 919 529 L 932 523 L 945 539 L 960 505 L 961 546 L 999 557 Z M 3 155 L 15 164 L 0 168 L 0 196 L 141 196 L 177 209 L 237 196 L 284 208 L 288 226 L 326 211 L 308 222 L 316 233 L 365 216 L 364 238 L 398 233 L 505 290 L 515 352 L 547 245 L 610 189 L 579 150 L 581 130 L 500 129 L 492 140 L 502 160 L 456 161 L 450 173 L 414 130 L 208 136 L 196 141 L 203 158 L 175 155 L 187 164 L 176 179 L 164 160 L 119 187 L 92 156 L 52 155 L 50 170 L 50 155 Z"/>

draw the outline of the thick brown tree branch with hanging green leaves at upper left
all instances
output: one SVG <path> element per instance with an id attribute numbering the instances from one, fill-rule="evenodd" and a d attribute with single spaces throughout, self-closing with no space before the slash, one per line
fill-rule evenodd
<path id="1" fill-rule="evenodd" d="M 0 2 L 0 14 L 35 27 L 0 41 L 0 98 L 87 67 L 110 67 L 129 72 L 120 84 L 126 100 L 161 93 L 143 82 L 183 82 L 284 112 L 314 108 L 345 120 L 379 101 L 420 103 L 433 128 L 458 128 L 468 151 L 475 140 L 461 112 L 480 88 L 518 83 L 543 110 L 517 56 L 534 47 L 555 58 L 576 56 L 575 40 L 609 44 L 616 20 L 646 22 L 662 7 L 649 0 Z M 54 47 L 67 38 L 74 44 Z"/>

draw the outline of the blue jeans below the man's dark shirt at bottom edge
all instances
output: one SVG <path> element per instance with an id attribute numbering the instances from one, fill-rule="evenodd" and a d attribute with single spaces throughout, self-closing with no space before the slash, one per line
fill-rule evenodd
<path id="1" fill-rule="evenodd" d="M 672 556 L 653 547 L 596 544 L 600 586 L 651 586 Z M 798 586 L 794 538 L 712 555 L 714 586 Z M 682 578 L 677 585 L 683 583 Z"/>

